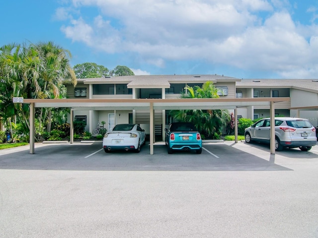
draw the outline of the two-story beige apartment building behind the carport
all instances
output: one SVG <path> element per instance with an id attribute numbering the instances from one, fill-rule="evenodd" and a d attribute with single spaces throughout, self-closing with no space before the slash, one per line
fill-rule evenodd
<path id="1" fill-rule="evenodd" d="M 78 79 L 76 87 L 68 85 L 68 98 L 83 99 L 176 99 L 184 87 L 202 86 L 211 81 L 221 98 L 290 97 L 290 102 L 275 103 L 275 115 L 296 116 L 291 107 L 318 105 L 318 80 L 311 79 L 238 79 L 223 75 L 134 75 Z M 263 118 L 269 116 L 269 106 L 249 106 L 238 109 L 238 117 Z M 318 111 L 302 111 L 317 126 Z M 110 130 L 118 123 L 138 123 L 149 132 L 149 111 L 89 110 L 75 111 L 74 120 L 86 122 L 86 131 L 105 121 Z M 171 122 L 169 111 L 156 110 L 155 124 L 164 128 Z"/>

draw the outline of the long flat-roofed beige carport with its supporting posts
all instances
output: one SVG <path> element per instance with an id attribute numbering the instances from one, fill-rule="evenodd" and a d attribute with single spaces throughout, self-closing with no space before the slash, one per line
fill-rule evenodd
<path id="1" fill-rule="evenodd" d="M 24 99 L 30 104 L 30 154 L 34 154 L 35 108 L 70 108 L 71 139 L 73 143 L 73 112 L 77 110 L 149 110 L 150 154 L 154 154 L 155 110 L 220 110 L 235 111 L 235 142 L 238 142 L 238 108 L 270 106 L 270 153 L 275 154 L 275 103 L 290 101 L 290 98 L 208 98 L 208 99 Z"/>

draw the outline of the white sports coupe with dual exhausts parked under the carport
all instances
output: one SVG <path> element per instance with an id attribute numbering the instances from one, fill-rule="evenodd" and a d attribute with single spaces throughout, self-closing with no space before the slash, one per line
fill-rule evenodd
<path id="1" fill-rule="evenodd" d="M 134 150 L 140 152 L 145 144 L 145 130 L 138 124 L 117 124 L 104 135 L 103 149 L 106 153 L 112 150 Z"/>

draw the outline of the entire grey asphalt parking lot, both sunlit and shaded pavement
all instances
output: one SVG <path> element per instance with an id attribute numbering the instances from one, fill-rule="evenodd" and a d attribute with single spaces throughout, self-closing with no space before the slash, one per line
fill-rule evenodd
<path id="1" fill-rule="evenodd" d="M 318 146 L 101 143 L 0 151 L 1 237 L 318 237 Z"/>

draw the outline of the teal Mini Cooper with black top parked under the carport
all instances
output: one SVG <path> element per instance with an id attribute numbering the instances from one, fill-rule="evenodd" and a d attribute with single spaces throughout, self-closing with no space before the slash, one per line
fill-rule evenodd
<path id="1" fill-rule="evenodd" d="M 165 130 L 165 145 L 168 154 L 177 150 L 193 150 L 202 153 L 202 139 L 199 131 L 190 122 L 174 122 Z"/>

